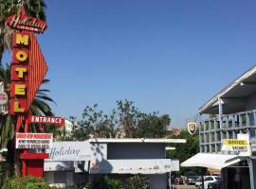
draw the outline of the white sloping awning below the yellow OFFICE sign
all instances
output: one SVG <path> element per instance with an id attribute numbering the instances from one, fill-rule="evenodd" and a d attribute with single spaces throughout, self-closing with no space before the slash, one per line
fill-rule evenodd
<path id="1" fill-rule="evenodd" d="M 197 153 L 189 160 L 181 163 L 181 166 L 203 166 L 215 169 L 222 169 L 233 163 L 239 163 L 242 157 L 238 155 Z"/>

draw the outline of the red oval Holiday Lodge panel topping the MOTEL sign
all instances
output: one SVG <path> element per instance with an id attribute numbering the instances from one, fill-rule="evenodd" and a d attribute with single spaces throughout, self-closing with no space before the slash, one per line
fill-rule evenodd
<path id="1" fill-rule="evenodd" d="M 43 33 L 46 28 L 46 22 L 26 15 L 12 15 L 7 19 L 7 24 L 18 30 L 28 30 L 36 33 Z"/>

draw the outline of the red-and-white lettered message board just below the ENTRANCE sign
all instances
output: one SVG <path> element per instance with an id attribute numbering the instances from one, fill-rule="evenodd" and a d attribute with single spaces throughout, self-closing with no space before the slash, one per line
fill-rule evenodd
<path id="1" fill-rule="evenodd" d="M 16 148 L 46 149 L 52 147 L 52 133 L 16 133 Z"/>

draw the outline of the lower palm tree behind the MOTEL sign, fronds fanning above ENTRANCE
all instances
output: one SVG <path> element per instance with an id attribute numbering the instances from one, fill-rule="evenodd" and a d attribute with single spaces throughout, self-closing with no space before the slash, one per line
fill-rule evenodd
<path id="1" fill-rule="evenodd" d="M 9 96 L 9 84 L 10 84 L 10 65 L 7 64 L 6 68 L 3 66 L 0 67 L 0 82 L 4 83 L 5 92 Z M 49 82 L 48 79 L 43 80 L 43 85 L 45 86 Z M 53 116 L 51 108 L 47 104 L 47 102 L 55 103 L 49 96 L 47 96 L 47 92 L 49 90 L 40 89 L 36 94 L 35 99 L 33 100 L 29 113 L 32 115 L 47 115 Z M 9 104 L 6 105 L 7 110 Z M 0 148 L 7 147 L 8 148 L 8 161 L 10 164 L 14 163 L 13 151 L 15 147 L 14 139 L 15 139 L 15 125 L 16 125 L 16 116 L 7 114 L 0 114 Z M 40 125 L 39 124 L 30 124 L 29 129 L 31 132 L 39 132 Z M 46 127 L 46 129 L 50 129 L 52 131 L 54 128 Z M 57 130 L 58 131 L 58 130 Z M 13 166 L 12 166 L 13 167 Z"/>

